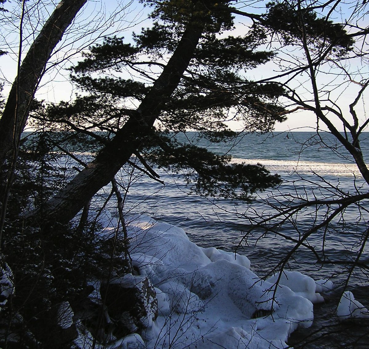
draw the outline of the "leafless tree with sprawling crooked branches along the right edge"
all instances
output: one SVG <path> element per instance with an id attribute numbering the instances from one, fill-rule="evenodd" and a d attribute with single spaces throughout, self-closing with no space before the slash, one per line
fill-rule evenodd
<path id="1" fill-rule="evenodd" d="M 263 236 L 270 234 L 290 242 L 289 250 L 271 271 L 278 272 L 279 278 L 289 261 L 303 248 L 311 251 L 319 265 L 345 266 L 345 288 L 356 268 L 365 275 L 369 271 L 367 262 L 362 258 L 369 237 L 366 205 L 369 199 L 369 172 L 365 162 L 368 155 L 361 148 L 361 139 L 366 137 L 363 131 L 369 123 L 365 111 L 369 84 L 368 28 L 364 22 L 367 8 L 366 3 L 361 1 L 349 4 L 341 1 L 315 3 L 313 8 L 317 7 L 322 10 L 322 30 L 328 30 L 331 19 L 345 13 L 341 23 L 344 31 L 336 27 L 336 39 L 330 43 L 319 40 L 310 32 L 306 19 L 312 7 L 305 1 L 281 1 L 272 6 L 271 11 L 282 13 L 286 8 L 294 8 L 296 13 L 290 22 L 286 21 L 277 28 L 282 29 L 278 33 L 271 26 L 269 34 L 277 39 L 271 45 L 283 42 L 291 43 L 294 47 L 292 54 L 280 52 L 277 62 L 281 73 L 272 81 L 285 89 L 283 96 L 289 104 L 290 117 L 294 117 L 295 112 L 315 115 L 315 135 L 301 144 L 301 149 L 311 144 L 329 148 L 332 156 L 356 164 L 358 173 L 353 177 L 351 191 L 346 191 L 340 183 L 330 183 L 317 173 L 315 180 L 301 174 L 297 181 L 300 186 L 306 186 L 305 191 L 296 190 L 289 195 L 275 191 L 263 199 L 270 208 L 269 214 L 257 216 L 246 212 L 245 217 L 251 223 L 251 228 L 243 241 L 250 242 L 252 233 L 262 229 Z M 293 39 L 291 31 L 296 31 L 292 34 Z M 349 44 L 346 49 L 342 49 L 343 42 Z M 333 137 L 327 138 L 327 134 Z M 349 219 L 352 216 L 356 217 L 355 225 Z M 287 227 L 294 233 L 286 233 L 284 228 Z M 354 241 L 350 257 L 337 258 L 327 253 L 330 243 L 348 232 Z M 320 243 L 317 244 L 317 240 Z"/>

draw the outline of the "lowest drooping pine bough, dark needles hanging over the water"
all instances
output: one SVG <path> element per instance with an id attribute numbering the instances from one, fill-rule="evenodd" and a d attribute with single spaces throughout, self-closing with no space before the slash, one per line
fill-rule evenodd
<path id="1" fill-rule="evenodd" d="M 260 164 L 229 163 L 230 156 L 215 155 L 192 144 L 180 144 L 164 135 L 157 138 L 159 147 L 150 149 L 148 158 L 173 172 L 184 173 L 187 183 L 193 184 L 198 194 L 251 201 L 255 191 L 281 182 L 278 175 L 271 175 Z"/>

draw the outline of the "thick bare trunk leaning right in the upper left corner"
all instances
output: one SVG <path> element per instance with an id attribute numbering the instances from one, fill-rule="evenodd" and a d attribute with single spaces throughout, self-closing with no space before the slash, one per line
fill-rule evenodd
<path id="1" fill-rule="evenodd" d="M 18 144 L 31 102 L 51 52 L 87 0 L 62 0 L 25 56 L 0 119 L 0 167 Z"/>

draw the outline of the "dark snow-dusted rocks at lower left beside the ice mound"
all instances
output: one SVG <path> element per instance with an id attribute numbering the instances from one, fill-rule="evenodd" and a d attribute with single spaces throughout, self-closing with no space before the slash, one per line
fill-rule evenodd
<path id="1" fill-rule="evenodd" d="M 4 316 L 11 297 L 16 296 L 12 276 L 4 264 L 0 269 L 0 313 Z M 158 316 L 158 299 L 149 278 L 127 274 L 96 285 L 100 289 L 89 285 L 78 299 L 54 304 L 42 314 L 34 314 L 27 324 L 17 313 L 11 325 L 4 318 L 0 321 L 4 329 L 0 331 L 0 346 L 78 348 L 82 334 L 87 341 L 108 343 L 120 339 L 122 348 L 143 347 L 139 334 L 151 328 Z"/>

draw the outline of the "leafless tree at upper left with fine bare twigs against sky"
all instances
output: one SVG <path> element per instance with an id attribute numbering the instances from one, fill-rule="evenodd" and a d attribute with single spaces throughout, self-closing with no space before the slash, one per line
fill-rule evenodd
<path id="1" fill-rule="evenodd" d="M 81 13 L 86 3 L 87 0 L 60 1 L 45 23 L 42 23 L 41 13 L 45 10 L 47 12 L 50 5 L 40 1 L 32 4 L 23 1 L 20 13 L 9 15 L 7 12 L 4 13 L 4 16 L 8 15 L 9 38 L 4 36 L 3 41 L 4 45 L 8 45 L 8 54 L 17 61 L 17 77 L 11 84 L 0 119 L 0 168 L 2 170 L 0 232 L 3 230 L 6 216 L 21 134 L 28 121 L 34 95 L 40 87 L 41 79 L 45 74 L 58 74 L 66 63 L 76 55 L 80 55 L 95 40 L 99 40 L 106 34 L 111 35 L 124 30 L 132 24 L 126 18 L 129 1 L 127 4 L 118 2 L 113 12 L 108 15 L 104 8 L 101 7 L 99 10 L 95 5 L 94 13 L 79 24 L 76 16 Z M 37 16 L 40 17 L 37 18 Z M 137 18 L 139 15 L 132 21 Z M 14 29 L 18 31 L 18 38 L 13 34 Z M 13 43 L 9 40 L 13 40 Z M 25 49 L 27 54 L 23 58 Z M 6 159 L 8 159 L 7 163 L 5 163 Z"/>

